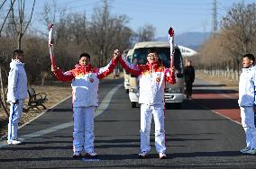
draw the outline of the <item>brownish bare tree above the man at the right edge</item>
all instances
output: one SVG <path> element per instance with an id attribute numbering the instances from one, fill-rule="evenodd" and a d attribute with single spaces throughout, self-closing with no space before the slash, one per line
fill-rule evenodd
<path id="1" fill-rule="evenodd" d="M 234 4 L 222 21 L 224 48 L 239 70 L 242 55 L 251 53 L 256 36 L 256 4 Z M 239 74 L 239 71 L 238 71 Z"/>

